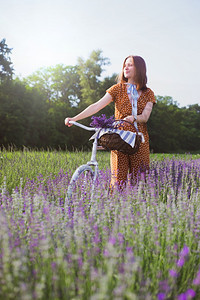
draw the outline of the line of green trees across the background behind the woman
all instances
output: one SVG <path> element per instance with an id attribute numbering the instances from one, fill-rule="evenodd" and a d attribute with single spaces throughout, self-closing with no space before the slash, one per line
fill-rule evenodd
<path id="1" fill-rule="evenodd" d="M 37 149 L 88 149 L 91 133 L 64 125 L 100 99 L 116 83 L 117 74 L 102 77 L 109 65 L 102 51 L 92 51 L 75 66 L 58 64 L 41 68 L 23 79 L 13 78 L 14 68 L 5 39 L 0 42 L 0 146 Z M 169 96 L 156 96 L 148 121 L 151 151 L 198 152 L 200 150 L 200 106 L 180 108 Z M 98 114 L 110 117 L 114 104 Z M 89 125 L 90 118 L 81 121 Z"/>

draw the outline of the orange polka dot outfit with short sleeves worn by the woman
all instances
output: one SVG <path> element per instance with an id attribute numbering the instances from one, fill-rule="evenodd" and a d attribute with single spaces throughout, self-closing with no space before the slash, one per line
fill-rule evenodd
<path id="1" fill-rule="evenodd" d="M 127 94 L 127 85 L 118 83 L 107 90 L 115 102 L 115 119 L 124 119 L 132 115 L 132 106 Z M 155 96 L 151 89 L 147 88 L 137 101 L 137 115 L 142 114 L 147 102 L 155 103 Z M 145 172 L 149 169 L 149 135 L 146 123 L 137 123 L 138 130 L 143 133 L 145 142 L 140 144 L 139 151 L 133 155 L 123 154 L 120 151 L 111 151 L 111 185 L 118 183 L 123 185 L 127 181 L 128 173 L 134 180 L 139 171 Z M 129 124 L 124 130 L 134 131 Z"/>

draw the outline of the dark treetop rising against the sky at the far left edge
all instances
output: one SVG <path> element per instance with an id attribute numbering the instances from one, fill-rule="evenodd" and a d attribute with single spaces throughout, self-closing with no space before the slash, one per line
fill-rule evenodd
<path id="1" fill-rule="evenodd" d="M 10 59 L 12 49 L 8 48 L 6 40 L 0 41 L 0 81 L 12 79 L 13 67 Z"/>

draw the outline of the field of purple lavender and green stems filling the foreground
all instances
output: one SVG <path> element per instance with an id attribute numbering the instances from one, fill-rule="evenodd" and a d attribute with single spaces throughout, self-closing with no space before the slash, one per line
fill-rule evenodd
<path id="1" fill-rule="evenodd" d="M 0 299 L 200 299 L 200 155 L 151 155 L 145 179 L 110 195 L 99 152 L 94 198 L 68 201 L 89 158 L 0 152 Z"/>

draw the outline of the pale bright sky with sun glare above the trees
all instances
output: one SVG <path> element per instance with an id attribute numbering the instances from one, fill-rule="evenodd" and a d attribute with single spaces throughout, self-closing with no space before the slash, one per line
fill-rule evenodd
<path id="1" fill-rule="evenodd" d="M 103 76 L 139 55 L 155 95 L 200 104 L 199 0 L 0 0 L 3 38 L 21 78 L 100 49 L 111 63 Z"/>

